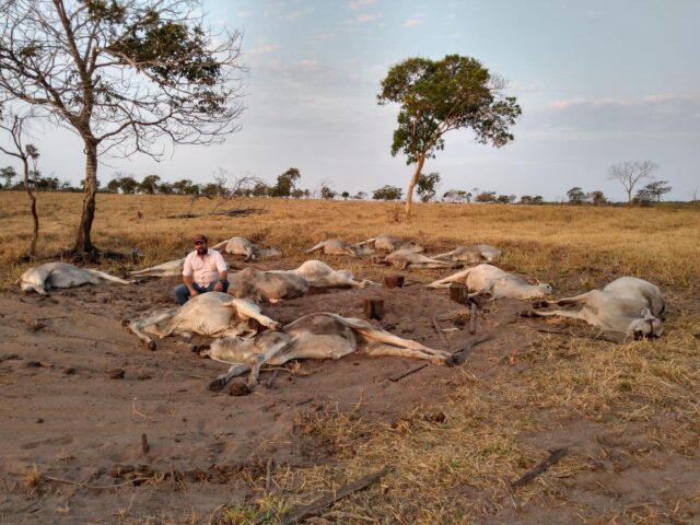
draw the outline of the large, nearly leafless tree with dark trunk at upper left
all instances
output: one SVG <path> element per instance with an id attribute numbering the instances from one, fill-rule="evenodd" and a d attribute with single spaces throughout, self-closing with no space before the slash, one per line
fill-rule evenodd
<path id="1" fill-rule="evenodd" d="M 75 132 L 85 155 L 74 252 L 91 241 L 97 158 L 160 158 L 164 143 L 238 129 L 241 34 L 203 26 L 200 0 L 4 0 L 0 103 L 21 101 Z"/>

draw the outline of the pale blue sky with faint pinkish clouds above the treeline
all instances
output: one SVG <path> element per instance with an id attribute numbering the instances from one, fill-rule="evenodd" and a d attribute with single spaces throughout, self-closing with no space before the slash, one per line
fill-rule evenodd
<path id="1" fill-rule="evenodd" d="M 510 81 L 523 118 L 502 149 L 448 135 L 425 172 L 440 192 L 475 187 L 560 198 L 603 189 L 619 161 L 651 159 L 668 198 L 700 186 L 700 2 L 205 0 L 209 21 L 244 30 L 249 78 L 243 129 L 225 144 L 183 147 L 160 164 L 105 160 L 116 170 L 208 182 L 219 166 L 272 182 L 299 167 L 301 186 L 405 187 L 411 168 L 389 147 L 396 106 L 378 106 L 388 68 L 411 56 L 462 54 Z M 37 140 L 43 167 L 79 179 L 80 145 L 63 132 Z M 74 175 L 73 175 L 74 174 Z"/>

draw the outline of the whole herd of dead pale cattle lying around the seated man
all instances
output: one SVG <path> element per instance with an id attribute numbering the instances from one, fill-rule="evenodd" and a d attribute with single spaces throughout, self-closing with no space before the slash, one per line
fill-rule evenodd
<path id="1" fill-rule="evenodd" d="M 243 256 L 246 261 L 280 255 L 275 248 L 256 246 L 240 236 L 213 247 Z M 458 246 L 429 257 L 423 255 L 424 248 L 417 243 L 378 235 L 358 244 L 328 240 L 306 253 L 316 252 L 350 257 L 371 256 L 374 262 L 393 265 L 402 270 L 472 265 L 427 287 L 440 289 L 448 288 L 451 283 L 464 283 L 469 298 L 538 300 L 533 304 L 535 316 L 582 319 L 599 330 L 621 332 L 634 339 L 663 334 L 664 298 L 656 285 L 634 277 L 621 277 L 603 290 L 547 301 L 544 299 L 552 294 L 549 284 L 509 273 L 491 265 L 502 256 L 502 252 L 490 245 Z M 129 277 L 177 276 L 182 273 L 184 260 L 132 271 Z M 20 278 L 20 287 L 24 292 L 46 294 L 52 288 L 96 284 L 101 281 L 122 284 L 136 282 L 66 262 L 48 262 L 25 271 Z M 401 355 L 438 364 L 451 364 L 455 360 L 451 352 L 400 338 L 359 318 L 326 312 L 305 315 L 282 326 L 261 313 L 258 303 L 303 296 L 314 288 L 380 285 L 369 280 L 357 280 L 351 271 L 334 270 L 320 260 L 307 260 L 293 270 L 260 271 L 247 267 L 231 273 L 229 282 L 228 293 L 199 294 L 183 306 L 158 310 L 125 325 L 151 349 L 155 349 L 152 336 L 191 338 L 194 334 L 199 334 L 212 338 L 210 345 L 195 349 L 202 357 L 231 364 L 229 372 L 210 385 L 212 389 L 221 389 L 233 377 L 248 373 L 245 388 L 249 392 L 257 383 L 262 364 L 280 365 L 293 359 L 339 359 L 363 351 L 371 355 Z"/>

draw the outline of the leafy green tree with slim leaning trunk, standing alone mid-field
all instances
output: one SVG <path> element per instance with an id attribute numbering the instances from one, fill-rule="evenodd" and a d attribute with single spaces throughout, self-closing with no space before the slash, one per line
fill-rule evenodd
<path id="1" fill-rule="evenodd" d="M 409 58 L 389 70 L 377 98 L 380 104 L 400 104 L 392 155 L 402 151 L 407 164 L 416 164 L 406 190 L 409 217 L 425 160 L 445 148 L 447 131 L 470 128 L 477 142 L 497 148 L 513 140 L 509 128 L 522 110 L 515 97 L 502 96 L 504 88 L 478 60 L 459 55 Z"/>

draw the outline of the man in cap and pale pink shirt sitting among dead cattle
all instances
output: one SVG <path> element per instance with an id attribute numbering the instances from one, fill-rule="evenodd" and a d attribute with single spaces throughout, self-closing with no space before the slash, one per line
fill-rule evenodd
<path id="1" fill-rule="evenodd" d="M 200 293 L 226 293 L 229 290 L 229 268 L 221 254 L 207 245 L 205 235 L 196 235 L 194 242 L 195 252 L 185 258 L 183 284 L 175 287 L 175 298 L 179 304 Z"/>

